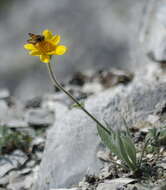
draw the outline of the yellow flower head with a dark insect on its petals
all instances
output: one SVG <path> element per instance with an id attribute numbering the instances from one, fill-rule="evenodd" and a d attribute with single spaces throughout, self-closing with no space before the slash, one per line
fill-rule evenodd
<path id="1" fill-rule="evenodd" d="M 49 63 L 52 55 L 63 55 L 67 51 L 66 46 L 58 45 L 60 36 L 53 36 L 49 30 L 44 30 L 42 35 L 32 33 L 29 35 L 31 39 L 28 40 L 28 44 L 24 45 L 24 48 L 30 51 L 30 55 L 39 56 L 43 63 Z"/>

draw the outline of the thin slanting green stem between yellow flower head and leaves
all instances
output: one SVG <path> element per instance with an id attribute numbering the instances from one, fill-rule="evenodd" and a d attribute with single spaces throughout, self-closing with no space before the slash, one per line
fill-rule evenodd
<path id="1" fill-rule="evenodd" d="M 69 98 L 71 98 L 81 109 L 82 111 L 84 111 L 93 121 L 96 122 L 96 124 L 98 126 L 100 126 L 103 130 L 105 130 L 107 133 L 110 134 L 110 131 L 105 128 L 103 126 L 103 124 L 101 124 L 91 113 L 89 113 L 84 107 L 83 105 L 81 105 L 68 91 L 66 91 L 63 86 L 56 80 L 56 77 L 54 75 L 54 72 L 52 70 L 52 67 L 51 67 L 51 63 L 48 63 L 47 64 L 47 67 L 48 67 L 48 71 L 49 71 L 49 74 L 50 74 L 50 78 L 53 82 L 53 85 L 55 85 L 59 90 L 62 90 Z"/>

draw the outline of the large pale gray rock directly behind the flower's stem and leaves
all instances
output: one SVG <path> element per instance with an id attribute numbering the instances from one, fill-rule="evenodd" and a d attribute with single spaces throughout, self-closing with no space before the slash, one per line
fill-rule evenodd
<path id="1" fill-rule="evenodd" d="M 145 121 L 165 98 L 165 83 L 136 80 L 128 87 L 115 87 L 89 98 L 85 106 L 112 128 L 122 128 L 121 114 L 129 125 Z M 69 187 L 86 173 L 97 172 L 101 167 L 96 156 L 99 148 L 100 139 L 91 119 L 78 109 L 69 110 L 65 115 L 62 112 L 48 132 L 38 189 Z"/>

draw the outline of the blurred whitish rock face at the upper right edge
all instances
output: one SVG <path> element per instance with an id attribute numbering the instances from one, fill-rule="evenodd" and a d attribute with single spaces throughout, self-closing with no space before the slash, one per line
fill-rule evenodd
<path id="1" fill-rule="evenodd" d="M 156 61 L 166 61 L 166 2 L 154 1 L 150 15 L 145 36 L 146 51 L 151 52 Z"/>

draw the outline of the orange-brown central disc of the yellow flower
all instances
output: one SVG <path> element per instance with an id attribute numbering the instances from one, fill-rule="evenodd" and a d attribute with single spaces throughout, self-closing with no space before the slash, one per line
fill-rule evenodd
<path id="1" fill-rule="evenodd" d="M 49 41 L 38 42 L 35 46 L 43 53 L 48 53 L 55 50 L 55 46 Z"/>

